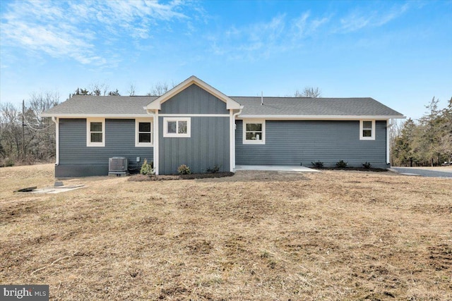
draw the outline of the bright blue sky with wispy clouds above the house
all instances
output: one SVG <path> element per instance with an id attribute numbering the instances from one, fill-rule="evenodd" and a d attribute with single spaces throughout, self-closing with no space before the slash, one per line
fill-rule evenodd
<path id="1" fill-rule="evenodd" d="M 452 1 L 0 1 L 0 102 L 190 75 L 230 96 L 452 97 Z"/>

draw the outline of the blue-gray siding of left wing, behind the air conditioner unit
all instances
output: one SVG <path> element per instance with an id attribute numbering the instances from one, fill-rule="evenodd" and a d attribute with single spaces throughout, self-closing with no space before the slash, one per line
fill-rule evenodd
<path id="1" fill-rule="evenodd" d="M 145 158 L 153 160 L 153 147 L 135 147 L 134 119 L 105 119 L 105 147 L 86 146 L 86 119 L 59 119 L 55 177 L 107 176 L 113 156 L 129 159 L 129 168 L 140 168 Z"/>

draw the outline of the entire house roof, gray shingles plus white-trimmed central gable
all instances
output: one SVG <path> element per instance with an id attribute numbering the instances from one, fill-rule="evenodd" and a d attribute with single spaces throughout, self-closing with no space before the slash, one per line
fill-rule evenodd
<path id="1" fill-rule="evenodd" d="M 142 117 L 146 110 L 160 109 L 160 105 L 186 89 L 198 85 L 226 103 L 227 109 L 242 109 L 238 118 L 273 119 L 389 119 L 405 118 L 370 97 L 366 98 L 309 98 L 309 97 L 228 97 L 196 76 L 191 76 L 162 96 L 92 96 L 74 95 L 58 106 L 42 113 L 43 117 Z"/>

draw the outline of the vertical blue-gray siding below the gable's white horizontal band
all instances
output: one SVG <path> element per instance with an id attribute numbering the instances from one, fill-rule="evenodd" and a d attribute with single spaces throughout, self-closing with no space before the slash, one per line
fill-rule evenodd
<path id="1" fill-rule="evenodd" d="M 185 164 L 192 173 L 206 173 L 221 166 L 230 170 L 230 118 L 190 117 L 191 137 L 163 137 L 163 118 L 159 118 L 159 173 L 177 173 Z"/>

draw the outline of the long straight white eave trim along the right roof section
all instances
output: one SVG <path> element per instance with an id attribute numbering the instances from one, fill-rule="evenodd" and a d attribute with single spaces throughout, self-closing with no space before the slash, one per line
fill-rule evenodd
<path id="1" fill-rule="evenodd" d="M 291 120 L 360 120 L 374 119 L 387 120 L 391 118 L 404 119 L 406 116 L 364 116 L 364 115 L 239 115 L 237 119 L 261 118 L 261 119 L 291 119 Z"/>

